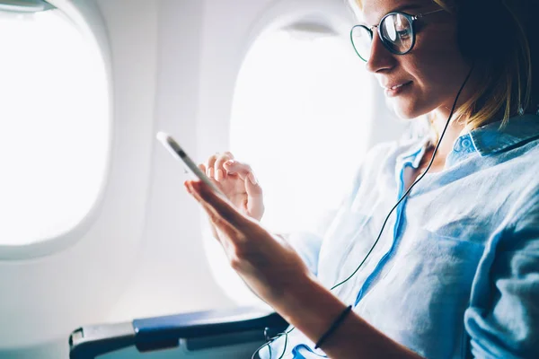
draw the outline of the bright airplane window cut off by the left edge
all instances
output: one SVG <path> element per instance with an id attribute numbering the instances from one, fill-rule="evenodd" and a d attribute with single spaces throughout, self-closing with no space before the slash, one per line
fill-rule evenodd
<path id="1" fill-rule="evenodd" d="M 69 232 L 88 214 L 110 141 L 102 54 L 59 10 L 0 11 L 0 245 Z"/>

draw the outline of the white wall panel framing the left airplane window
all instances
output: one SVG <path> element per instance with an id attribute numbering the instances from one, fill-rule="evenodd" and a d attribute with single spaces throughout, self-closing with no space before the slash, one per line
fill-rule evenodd
<path id="1" fill-rule="evenodd" d="M 66 353 L 70 331 L 107 320 L 128 283 L 146 215 L 158 4 L 102 1 L 100 13 L 85 1 L 80 8 L 110 40 L 103 47 L 110 46 L 106 57 L 113 84 L 108 180 L 92 221 L 66 235 L 70 246 L 38 258 L 0 262 L 0 357 L 58 357 L 53 349 L 58 347 Z M 24 347 L 34 347 L 33 352 Z"/>

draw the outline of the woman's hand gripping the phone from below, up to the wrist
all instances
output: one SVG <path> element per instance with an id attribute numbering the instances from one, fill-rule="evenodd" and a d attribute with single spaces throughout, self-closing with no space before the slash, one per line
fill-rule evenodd
<path id="1" fill-rule="evenodd" d="M 278 305 L 290 288 L 300 287 L 311 276 L 286 241 L 240 212 L 228 198 L 201 181 L 188 180 L 184 185 L 208 214 L 231 267 L 262 300 Z"/>

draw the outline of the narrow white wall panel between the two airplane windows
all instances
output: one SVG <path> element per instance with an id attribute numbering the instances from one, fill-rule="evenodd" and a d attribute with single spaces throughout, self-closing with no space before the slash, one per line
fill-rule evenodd
<path id="1" fill-rule="evenodd" d="M 202 1 L 165 0 L 159 10 L 155 124 L 174 136 L 194 159 Z M 219 291 L 202 246 L 199 206 L 183 188 L 181 162 L 154 140 L 144 242 L 128 291 L 110 312 L 123 320 L 234 305 Z"/>

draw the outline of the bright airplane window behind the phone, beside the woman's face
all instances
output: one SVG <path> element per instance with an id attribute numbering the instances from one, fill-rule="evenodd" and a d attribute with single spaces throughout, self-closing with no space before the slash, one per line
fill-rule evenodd
<path id="1" fill-rule="evenodd" d="M 231 150 L 264 189 L 262 222 L 318 232 L 367 151 L 371 78 L 349 39 L 273 31 L 257 39 L 237 78 Z"/>

